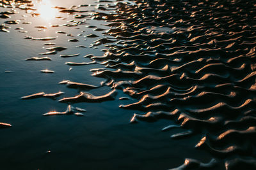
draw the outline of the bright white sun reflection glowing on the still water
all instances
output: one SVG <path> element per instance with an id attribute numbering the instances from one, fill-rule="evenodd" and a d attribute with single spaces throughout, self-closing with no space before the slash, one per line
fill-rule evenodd
<path id="1" fill-rule="evenodd" d="M 51 4 L 51 0 L 40 1 L 37 11 L 40 13 L 40 17 L 47 21 L 52 20 L 57 13 L 57 10 Z"/>

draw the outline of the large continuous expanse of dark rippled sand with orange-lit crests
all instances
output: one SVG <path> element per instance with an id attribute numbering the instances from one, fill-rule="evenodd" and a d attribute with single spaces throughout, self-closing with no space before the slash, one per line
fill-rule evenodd
<path id="1" fill-rule="evenodd" d="M 110 22 L 104 34 L 118 43 L 107 41 L 105 55 L 91 57 L 106 66 L 93 76 L 138 99 L 120 105 L 145 111 L 131 122 L 175 120 L 163 130 L 184 132 L 171 138 L 201 134 L 195 148 L 228 159 L 226 169 L 255 169 L 255 2 L 137 0 L 115 8 L 115 14 L 94 13 Z M 177 169 L 213 164 L 188 159 Z"/>

